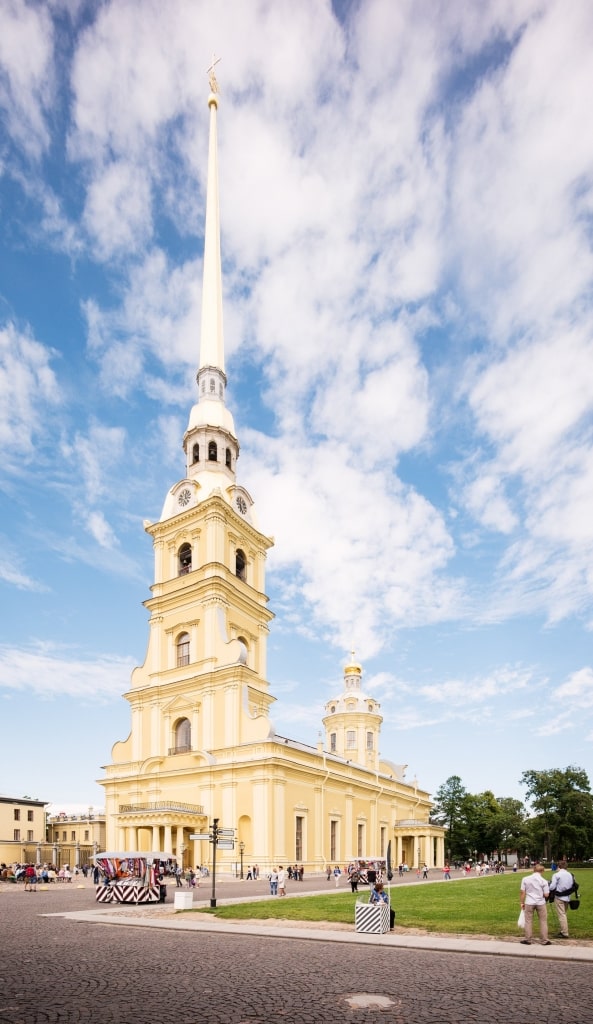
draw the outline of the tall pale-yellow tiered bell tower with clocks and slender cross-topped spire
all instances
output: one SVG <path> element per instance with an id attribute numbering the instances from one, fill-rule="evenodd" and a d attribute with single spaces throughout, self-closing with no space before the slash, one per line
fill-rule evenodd
<path id="1" fill-rule="evenodd" d="M 237 481 L 239 441 L 225 404 L 218 209 L 218 86 L 210 75 L 204 280 L 198 396 L 183 436 L 185 475 L 145 522 L 155 553 L 144 664 L 126 699 L 130 736 L 113 750 L 119 779 L 134 765 L 136 799 L 155 801 L 164 776 L 215 764 L 217 752 L 267 737 L 265 559 L 253 499 Z M 158 765 L 142 778 L 140 765 Z M 119 770 L 116 771 L 116 768 Z M 125 773 L 124 773 L 125 774 Z M 187 776 L 189 777 L 189 776 Z M 131 781 L 131 779 L 130 779 Z M 187 783 L 189 784 L 189 783 Z M 105 785 L 105 796 L 109 783 Z"/>

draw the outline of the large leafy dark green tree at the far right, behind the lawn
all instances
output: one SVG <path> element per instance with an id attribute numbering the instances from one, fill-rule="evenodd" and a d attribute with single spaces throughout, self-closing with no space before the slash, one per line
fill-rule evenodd
<path id="1" fill-rule="evenodd" d="M 545 771 L 524 771 L 526 786 L 536 815 L 530 820 L 537 855 L 583 860 L 593 849 L 593 796 L 587 772 L 568 765 Z"/>

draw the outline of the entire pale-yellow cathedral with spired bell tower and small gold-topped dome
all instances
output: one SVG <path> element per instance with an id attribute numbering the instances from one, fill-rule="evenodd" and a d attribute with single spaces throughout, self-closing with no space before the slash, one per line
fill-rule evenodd
<path id="1" fill-rule="evenodd" d="M 155 551 L 149 644 L 125 699 L 131 729 L 99 779 L 109 850 L 162 850 L 186 865 L 212 860 L 208 834 L 232 829 L 216 852 L 236 872 L 241 853 L 260 870 L 305 871 L 353 858 L 443 863 L 443 829 L 406 765 L 380 754 L 380 705 L 363 689 L 353 655 L 341 692 L 308 745 L 274 731 L 266 678 L 273 617 L 265 595 L 272 541 L 238 482 L 239 440 L 225 404 L 218 202 L 218 90 L 211 75 L 210 134 L 198 396 L 183 436 L 185 475 L 144 524 Z M 338 689 L 338 687 L 336 687 Z M 232 849 L 230 849 L 232 847 Z"/>

